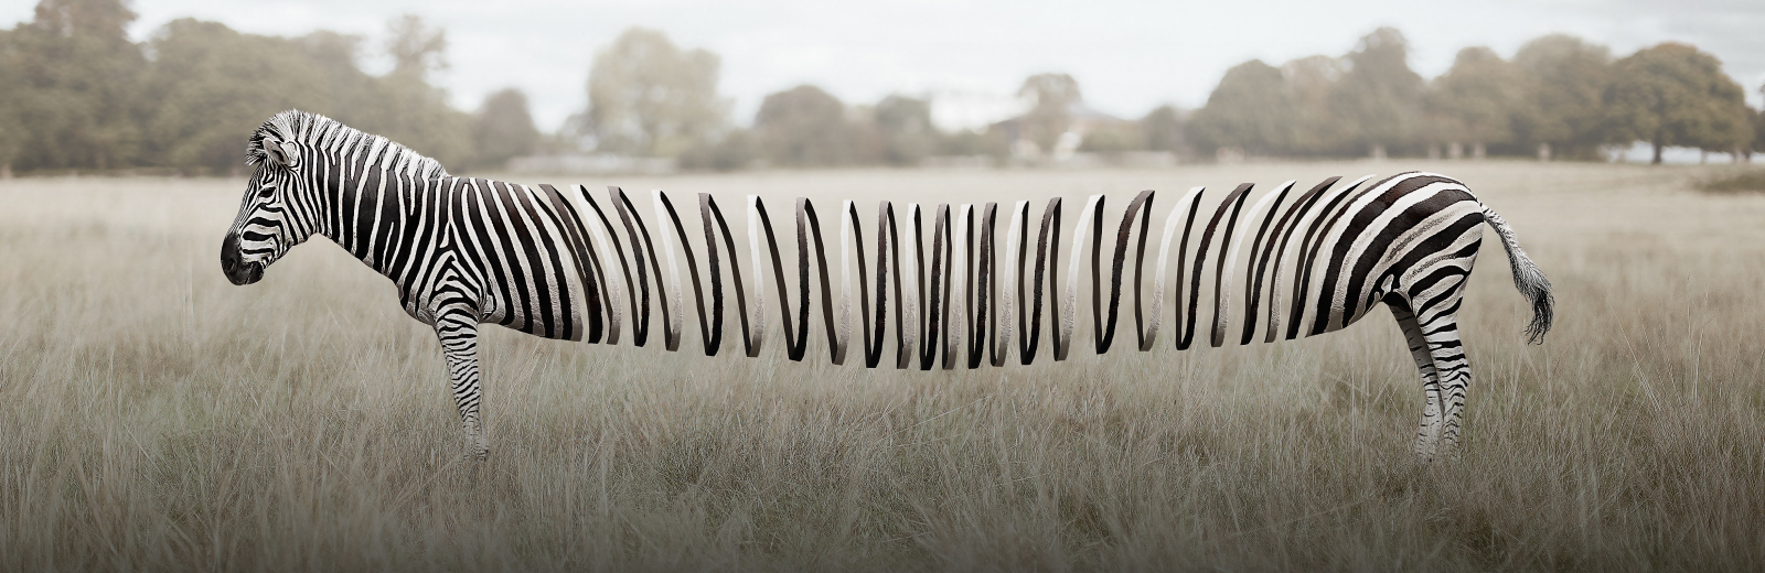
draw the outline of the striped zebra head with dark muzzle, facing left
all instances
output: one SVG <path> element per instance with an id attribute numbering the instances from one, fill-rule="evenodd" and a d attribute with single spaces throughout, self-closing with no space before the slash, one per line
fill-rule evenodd
<path id="1" fill-rule="evenodd" d="M 245 164 L 258 169 L 245 183 L 238 217 L 221 240 L 221 272 L 233 284 L 252 284 L 263 279 L 263 270 L 281 259 L 288 249 L 312 234 L 302 213 L 311 212 L 311 182 L 302 176 L 312 148 L 300 143 L 297 130 L 311 115 L 284 111 L 272 116 L 251 138 Z"/>

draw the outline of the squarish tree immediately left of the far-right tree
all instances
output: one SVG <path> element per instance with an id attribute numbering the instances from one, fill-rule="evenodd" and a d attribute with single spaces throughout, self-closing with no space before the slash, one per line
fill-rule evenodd
<path id="1" fill-rule="evenodd" d="M 1525 86 L 1518 139 L 1539 146 L 1539 157 L 1594 157 L 1601 134 L 1604 92 L 1611 83 L 1611 51 L 1567 33 L 1534 39 L 1514 53 Z"/>

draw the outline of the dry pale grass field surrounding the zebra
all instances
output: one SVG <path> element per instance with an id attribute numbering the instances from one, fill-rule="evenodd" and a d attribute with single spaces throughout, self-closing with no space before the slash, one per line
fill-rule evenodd
<path id="1" fill-rule="evenodd" d="M 957 372 L 831 367 L 814 344 L 792 363 L 777 339 L 734 358 L 734 330 L 702 358 L 694 326 L 680 354 L 485 328 L 478 465 L 434 335 L 383 277 L 319 238 L 226 282 L 242 182 L 0 182 L 0 569 L 1765 569 L 1765 196 L 1693 190 L 1716 167 L 584 183 L 1124 203 L 1410 167 L 1500 212 L 1558 303 L 1523 346 L 1486 233 L 1465 443 L 1431 465 L 1386 310 L 1190 353 L 1167 328 L 1091 356 L 1084 326 L 1070 361 Z"/>

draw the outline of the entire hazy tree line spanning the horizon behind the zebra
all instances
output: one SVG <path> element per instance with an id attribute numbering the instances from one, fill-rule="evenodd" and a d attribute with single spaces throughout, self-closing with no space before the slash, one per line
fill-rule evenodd
<path id="1" fill-rule="evenodd" d="M 1343 56 L 1227 71 L 1200 109 L 1160 106 L 1140 118 L 1087 111 L 1068 74 L 1027 78 L 1025 111 L 983 130 L 944 132 L 925 97 L 847 104 L 814 85 L 766 95 L 747 125 L 718 93 L 720 60 L 657 30 L 630 28 L 590 67 L 586 106 L 560 132 L 533 125 L 526 95 L 507 88 L 461 111 L 431 76 L 447 67 L 447 33 L 417 16 L 385 39 L 312 32 L 242 33 L 176 19 L 134 42 L 124 0 L 41 0 L 32 21 L 0 30 L 0 176 L 14 169 L 161 169 L 224 175 L 242 167 L 245 136 L 300 108 L 383 134 L 455 171 L 499 169 L 531 153 L 678 159 L 685 169 L 754 164 L 914 166 L 932 155 L 1024 150 L 1200 157 L 1541 155 L 1597 159 L 1601 146 L 1649 141 L 1749 155 L 1765 125 L 1721 62 L 1686 44 L 1613 58 L 1569 35 L 1527 42 L 1513 60 L 1458 53 L 1424 79 L 1405 37 L 1368 33 Z M 360 60 L 385 55 L 392 71 Z"/>

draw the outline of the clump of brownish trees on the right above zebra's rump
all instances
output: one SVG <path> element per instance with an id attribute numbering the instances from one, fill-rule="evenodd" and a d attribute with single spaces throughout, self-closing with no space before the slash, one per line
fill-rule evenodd
<path id="1" fill-rule="evenodd" d="M 1513 60 L 1465 48 L 1431 81 L 1407 60 L 1394 28 L 1338 58 L 1250 60 L 1225 72 L 1188 132 L 1204 148 L 1297 157 L 1468 146 L 1472 155 L 1597 159 L 1601 146 L 1633 141 L 1650 143 L 1654 162 L 1666 146 L 1765 150 L 1746 90 L 1694 46 L 1664 42 L 1615 60 L 1606 46 L 1557 33 Z"/>

